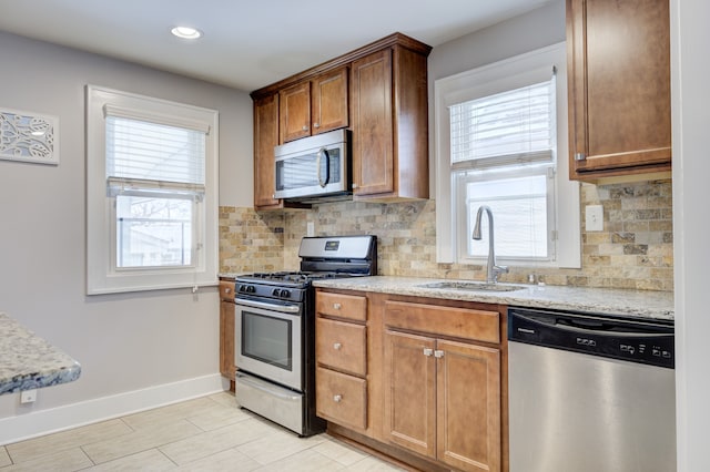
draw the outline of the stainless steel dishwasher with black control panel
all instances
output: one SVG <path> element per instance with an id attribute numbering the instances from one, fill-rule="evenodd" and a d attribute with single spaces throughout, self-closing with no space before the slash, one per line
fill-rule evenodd
<path id="1" fill-rule="evenodd" d="M 673 322 L 508 309 L 511 472 L 676 470 Z"/>

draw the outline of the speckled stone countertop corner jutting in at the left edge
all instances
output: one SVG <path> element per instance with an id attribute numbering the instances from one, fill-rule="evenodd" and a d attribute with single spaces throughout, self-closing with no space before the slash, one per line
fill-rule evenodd
<path id="1" fill-rule="evenodd" d="M 74 359 L 0 312 L 0 394 L 74 381 Z"/>

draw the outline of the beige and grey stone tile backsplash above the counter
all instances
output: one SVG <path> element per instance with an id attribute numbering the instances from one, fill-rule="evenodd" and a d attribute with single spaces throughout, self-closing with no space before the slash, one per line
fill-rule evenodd
<path id="1" fill-rule="evenodd" d="M 581 269 L 516 268 L 501 281 L 673 290 L 671 181 L 581 186 Z M 604 230 L 587 233 L 586 205 L 602 205 Z M 222 207 L 221 270 L 298 268 L 298 245 L 312 222 L 315 234 L 374 234 L 381 275 L 476 279 L 485 265 L 436 263 L 434 201 L 376 204 L 339 202 L 310 211 L 256 213 Z M 247 242 L 251 242 L 247 244 Z"/>

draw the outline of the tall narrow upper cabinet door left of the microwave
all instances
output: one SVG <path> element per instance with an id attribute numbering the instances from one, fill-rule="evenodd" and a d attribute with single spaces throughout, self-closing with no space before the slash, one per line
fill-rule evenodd
<path id="1" fill-rule="evenodd" d="M 278 95 L 254 101 L 254 207 L 277 208 L 274 146 L 278 144 Z"/>

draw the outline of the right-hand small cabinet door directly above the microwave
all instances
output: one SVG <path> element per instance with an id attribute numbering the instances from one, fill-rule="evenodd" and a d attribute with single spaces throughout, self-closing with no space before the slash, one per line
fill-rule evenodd
<path id="1" fill-rule="evenodd" d="M 312 133 L 347 127 L 347 68 L 312 81 Z"/>

